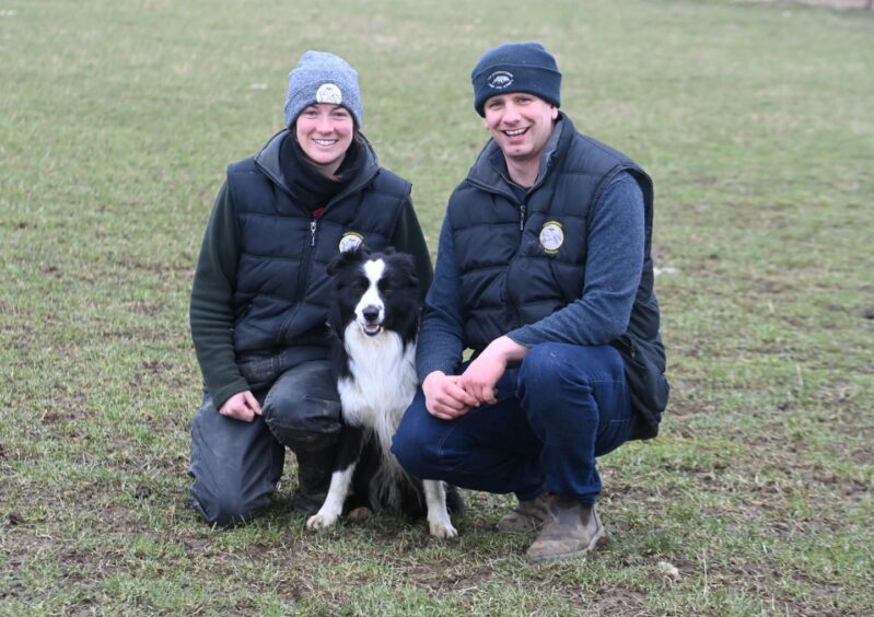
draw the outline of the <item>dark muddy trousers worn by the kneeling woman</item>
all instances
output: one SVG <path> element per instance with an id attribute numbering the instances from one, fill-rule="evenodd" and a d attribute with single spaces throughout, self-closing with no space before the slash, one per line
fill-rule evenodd
<path id="1" fill-rule="evenodd" d="M 191 421 L 191 505 L 210 524 L 253 519 L 270 504 L 285 446 L 323 453 L 328 468 L 340 431 L 340 401 L 327 361 L 285 370 L 253 392 L 264 416 L 243 422 L 221 416 L 209 393 Z"/>

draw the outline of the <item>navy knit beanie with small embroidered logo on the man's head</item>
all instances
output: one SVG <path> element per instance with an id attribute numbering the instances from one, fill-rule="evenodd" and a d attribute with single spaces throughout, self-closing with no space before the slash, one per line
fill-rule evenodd
<path id="1" fill-rule="evenodd" d="M 561 106 L 561 73 L 556 59 L 539 43 L 505 43 L 489 49 L 470 73 L 474 107 L 486 116 L 486 101 L 498 94 L 527 92 Z"/>

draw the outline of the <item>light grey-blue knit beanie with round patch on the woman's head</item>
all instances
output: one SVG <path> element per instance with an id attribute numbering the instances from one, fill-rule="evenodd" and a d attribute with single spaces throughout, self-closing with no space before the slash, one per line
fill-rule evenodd
<path id="1" fill-rule="evenodd" d="M 298 67 L 289 73 L 285 126 L 294 124 L 298 115 L 315 103 L 342 105 L 352 114 L 357 128 L 364 124 L 358 72 L 339 56 L 311 49 L 301 56 Z"/>

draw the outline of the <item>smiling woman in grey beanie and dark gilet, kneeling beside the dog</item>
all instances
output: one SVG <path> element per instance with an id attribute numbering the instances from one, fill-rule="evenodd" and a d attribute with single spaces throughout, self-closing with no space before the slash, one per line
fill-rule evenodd
<path id="1" fill-rule="evenodd" d="M 298 459 L 293 507 L 315 512 L 330 481 L 340 404 L 325 327 L 340 252 L 366 243 L 433 271 L 410 184 L 380 167 L 361 135 L 358 73 L 307 51 L 289 73 L 284 120 L 255 156 L 228 167 L 191 290 L 205 381 L 191 422 L 191 504 L 229 525 L 270 503 L 284 449 Z"/>

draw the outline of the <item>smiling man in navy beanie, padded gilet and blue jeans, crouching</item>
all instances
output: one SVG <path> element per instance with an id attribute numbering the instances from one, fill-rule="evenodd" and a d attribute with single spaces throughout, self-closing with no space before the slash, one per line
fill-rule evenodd
<path id="1" fill-rule="evenodd" d="M 579 557 L 606 537 L 595 457 L 654 436 L 667 403 L 652 182 L 559 110 L 541 45 L 491 49 L 471 79 L 491 140 L 450 198 L 393 452 L 419 477 L 514 492 L 498 528 L 540 528 L 529 561 Z"/>

